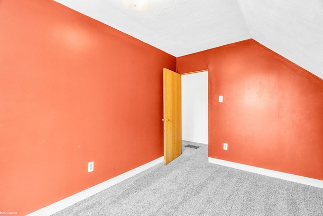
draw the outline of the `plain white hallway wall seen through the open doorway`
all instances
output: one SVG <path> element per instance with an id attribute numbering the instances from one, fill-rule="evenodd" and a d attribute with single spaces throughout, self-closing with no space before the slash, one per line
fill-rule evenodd
<path id="1" fill-rule="evenodd" d="M 208 144 L 208 72 L 182 75 L 182 140 Z"/>

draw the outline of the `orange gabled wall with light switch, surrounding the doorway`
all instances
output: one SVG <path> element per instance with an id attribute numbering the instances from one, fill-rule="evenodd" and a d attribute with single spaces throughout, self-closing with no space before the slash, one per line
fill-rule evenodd
<path id="1" fill-rule="evenodd" d="M 320 78 L 252 39 L 177 58 L 179 73 L 203 69 L 209 157 L 323 180 Z"/>

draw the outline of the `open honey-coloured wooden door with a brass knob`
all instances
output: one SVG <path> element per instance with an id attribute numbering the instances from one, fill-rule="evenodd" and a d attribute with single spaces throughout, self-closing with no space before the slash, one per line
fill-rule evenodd
<path id="1" fill-rule="evenodd" d="M 164 164 L 182 154 L 181 75 L 164 68 Z"/>

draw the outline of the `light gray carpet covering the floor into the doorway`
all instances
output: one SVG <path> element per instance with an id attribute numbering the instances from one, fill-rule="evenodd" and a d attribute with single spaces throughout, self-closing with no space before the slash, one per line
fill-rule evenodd
<path id="1" fill-rule="evenodd" d="M 169 165 L 53 215 L 323 215 L 323 189 L 210 164 L 207 145 L 182 146 Z"/>

